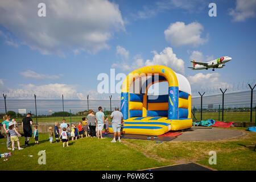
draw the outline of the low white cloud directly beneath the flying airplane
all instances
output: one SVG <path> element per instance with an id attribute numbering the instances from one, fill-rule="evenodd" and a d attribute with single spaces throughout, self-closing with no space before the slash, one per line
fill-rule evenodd
<path id="1" fill-rule="evenodd" d="M 219 73 L 197 73 L 194 76 L 188 76 L 188 81 L 191 84 L 192 89 L 205 89 L 205 88 L 231 88 L 232 84 L 221 81 L 221 75 Z"/>

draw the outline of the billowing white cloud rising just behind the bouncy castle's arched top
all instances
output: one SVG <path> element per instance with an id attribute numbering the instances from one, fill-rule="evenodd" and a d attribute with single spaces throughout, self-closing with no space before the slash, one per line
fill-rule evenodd
<path id="1" fill-rule="evenodd" d="M 167 67 L 170 67 L 177 73 L 185 72 L 184 61 L 176 57 L 176 54 L 172 51 L 171 47 L 166 47 L 160 53 L 156 51 L 153 51 L 153 53 L 154 57 L 152 58 L 152 60 L 143 61 L 141 57 L 135 56 L 132 63 L 127 63 L 123 61 L 122 63 L 114 63 L 112 67 L 121 68 L 124 71 L 133 71 L 134 69 L 150 65 L 165 65 Z"/>

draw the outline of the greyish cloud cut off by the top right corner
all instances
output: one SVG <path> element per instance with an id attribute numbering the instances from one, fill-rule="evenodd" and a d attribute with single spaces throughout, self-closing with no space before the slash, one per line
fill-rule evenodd
<path id="1" fill-rule="evenodd" d="M 236 9 L 230 9 L 229 15 L 233 16 L 236 22 L 242 22 L 247 18 L 254 18 L 256 15 L 256 1 L 237 0 Z"/>

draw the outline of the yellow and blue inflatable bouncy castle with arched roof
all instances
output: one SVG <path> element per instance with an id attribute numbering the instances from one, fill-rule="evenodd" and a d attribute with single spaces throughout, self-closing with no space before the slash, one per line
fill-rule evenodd
<path id="1" fill-rule="evenodd" d="M 148 88 L 168 82 L 168 94 L 151 96 Z M 129 73 L 122 84 L 123 134 L 162 135 L 192 127 L 191 86 L 171 68 L 154 65 Z M 109 132 L 113 133 L 110 126 Z"/>

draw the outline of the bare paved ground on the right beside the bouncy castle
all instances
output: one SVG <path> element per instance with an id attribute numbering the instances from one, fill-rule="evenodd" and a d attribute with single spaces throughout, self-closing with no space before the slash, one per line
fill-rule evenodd
<path id="1" fill-rule="evenodd" d="M 234 139 L 237 137 L 245 136 L 245 131 L 232 130 L 232 129 L 221 129 L 218 127 L 200 127 L 193 126 L 191 130 L 183 131 L 182 135 L 179 135 L 172 141 L 215 141 Z"/>

